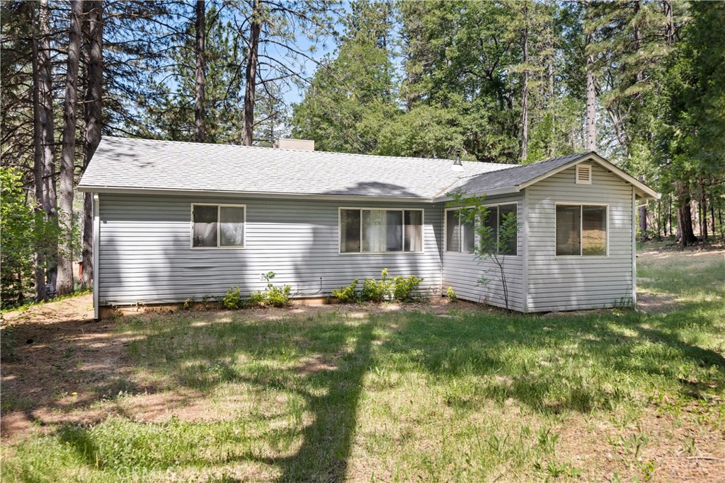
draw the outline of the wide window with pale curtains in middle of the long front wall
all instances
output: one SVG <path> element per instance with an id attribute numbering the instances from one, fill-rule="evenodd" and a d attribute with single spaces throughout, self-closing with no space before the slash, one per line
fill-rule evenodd
<path id="1" fill-rule="evenodd" d="M 423 210 L 340 209 L 341 253 L 423 251 Z"/>

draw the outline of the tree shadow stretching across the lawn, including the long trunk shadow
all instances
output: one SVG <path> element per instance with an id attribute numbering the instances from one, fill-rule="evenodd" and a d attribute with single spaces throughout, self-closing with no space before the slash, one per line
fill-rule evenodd
<path id="1" fill-rule="evenodd" d="M 145 369 L 170 375 L 197 392 L 228 382 L 260 392 L 280 391 L 302 400 L 310 413 L 307 426 L 273 429 L 269 424 L 262 436 L 272 440 L 283 432 L 287 440 L 301 440 L 294 453 L 282 450 L 280 457 L 269 457 L 269 451 L 260 454 L 240 444 L 239 450 L 212 464 L 254 461 L 276 466 L 283 482 L 337 482 L 347 473 L 363 379 L 370 369 L 428 374 L 436 386 L 431 397 L 439 397 L 441 387 L 452 381 L 476 376 L 468 392 L 443 395 L 444 403 L 471 410 L 487 400 L 509 399 L 547 413 L 611 408 L 632 396 L 622 392 L 627 385 L 620 390 L 615 383 L 612 390 L 602 383 L 613 371 L 628 380 L 642 374 L 663 377 L 678 385 L 682 395 L 703 398 L 724 390 L 725 358 L 685 342 L 678 333 L 688 328 L 716 331 L 703 313 L 692 304 L 645 317 L 631 313 L 550 319 L 493 313 L 443 318 L 407 313 L 360 320 L 332 314 L 247 322 L 241 312 L 232 322 L 189 314 L 159 318 L 163 325 L 156 327 L 149 317 L 128 324 L 141 334 L 131 343 L 131 352 Z M 378 339 L 381 330 L 388 331 L 384 341 Z M 592 366 L 595 375 L 605 374 L 602 379 L 588 380 L 592 373 L 579 371 Z M 683 366 L 702 369 L 697 372 L 700 379 L 683 378 Z M 93 435 L 69 426 L 59 429 L 59 437 L 93 466 L 99 452 Z"/>

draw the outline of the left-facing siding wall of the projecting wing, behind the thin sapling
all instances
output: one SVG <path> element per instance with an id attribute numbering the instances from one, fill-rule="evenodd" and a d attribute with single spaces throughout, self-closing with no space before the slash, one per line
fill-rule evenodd
<path id="1" fill-rule="evenodd" d="M 489 198 L 486 203 L 517 203 L 518 255 L 503 256 L 509 308 L 523 311 L 523 203 L 521 196 Z M 445 207 L 442 207 L 442 210 Z M 481 286 L 479 279 L 489 282 Z M 443 252 L 443 293 L 453 287 L 459 298 L 505 307 L 499 267 L 491 260 L 479 261 L 472 253 Z"/>

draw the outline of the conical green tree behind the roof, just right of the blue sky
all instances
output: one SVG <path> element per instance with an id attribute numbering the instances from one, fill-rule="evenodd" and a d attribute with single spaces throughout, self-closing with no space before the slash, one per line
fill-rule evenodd
<path id="1" fill-rule="evenodd" d="M 380 154 L 381 126 L 400 114 L 392 63 L 389 2 L 355 1 L 334 54 L 318 67 L 294 106 L 293 133 L 322 151 Z"/>

